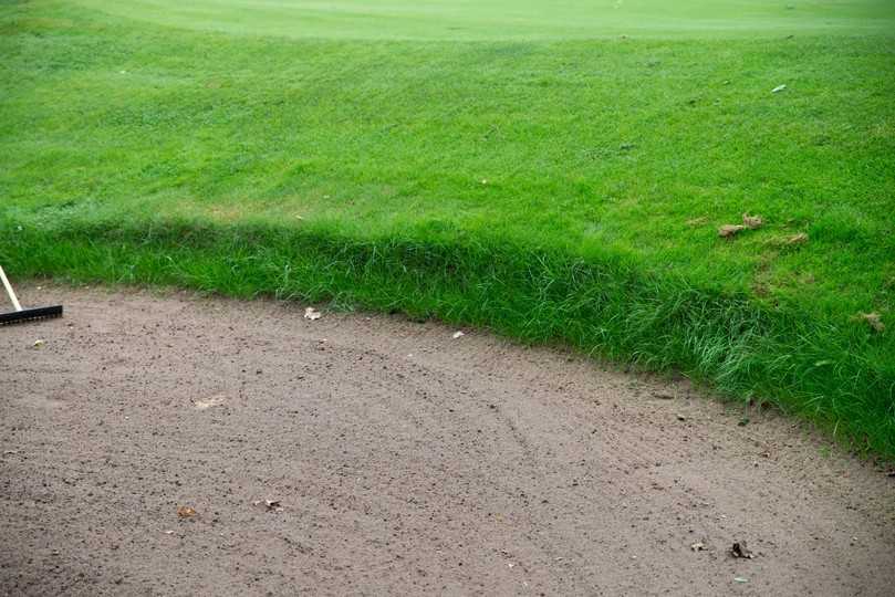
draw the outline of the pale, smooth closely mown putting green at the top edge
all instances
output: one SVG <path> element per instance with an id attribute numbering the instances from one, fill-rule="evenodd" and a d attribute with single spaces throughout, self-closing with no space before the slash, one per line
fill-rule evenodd
<path id="1" fill-rule="evenodd" d="M 190 30 L 365 40 L 753 38 L 892 30 L 887 0 L 76 0 Z"/>

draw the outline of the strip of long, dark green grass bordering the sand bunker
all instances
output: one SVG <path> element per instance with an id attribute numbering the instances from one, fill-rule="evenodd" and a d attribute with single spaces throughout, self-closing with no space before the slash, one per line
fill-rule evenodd
<path id="1" fill-rule="evenodd" d="M 856 451 L 895 457 L 895 364 L 857 326 L 761 306 L 745 295 L 645 275 L 507 238 L 431 229 L 356 238 L 302 229 L 155 219 L 18 230 L 0 260 L 19 275 L 162 284 L 229 296 L 331 301 L 562 341 L 651 370 L 680 370 L 733 399 L 809 418 Z"/>

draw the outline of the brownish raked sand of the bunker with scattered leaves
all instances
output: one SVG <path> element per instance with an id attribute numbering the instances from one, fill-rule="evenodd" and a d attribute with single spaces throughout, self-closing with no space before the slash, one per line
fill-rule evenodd
<path id="1" fill-rule="evenodd" d="M 895 478 L 685 381 L 399 317 L 23 295 L 66 314 L 0 327 L 2 594 L 895 586 Z"/>

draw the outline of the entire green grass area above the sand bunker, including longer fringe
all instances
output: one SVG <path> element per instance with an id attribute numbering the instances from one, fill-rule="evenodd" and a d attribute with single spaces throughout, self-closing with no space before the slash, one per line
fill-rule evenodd
<path id="1" fill-rule="evenodd" d="M 13 275 L 566 342 L 895 458 L 891 2 L 7 1 L 0 52 Z"/>

